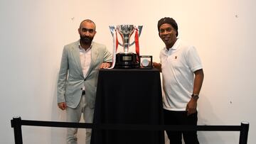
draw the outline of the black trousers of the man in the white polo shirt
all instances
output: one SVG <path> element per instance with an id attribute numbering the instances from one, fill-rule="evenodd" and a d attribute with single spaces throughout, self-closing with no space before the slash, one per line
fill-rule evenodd
<path id="1" fill-rule="evenodd" d="M 197 125 L 197 112 L 187 116 L 187 111 L 168 111 L 164 109 L 165 125 Z M 182 135 L 186 144 L 199 144 L 196 131 L 166 131 L 170 144 L 181 144 Z"/>

